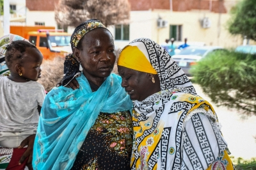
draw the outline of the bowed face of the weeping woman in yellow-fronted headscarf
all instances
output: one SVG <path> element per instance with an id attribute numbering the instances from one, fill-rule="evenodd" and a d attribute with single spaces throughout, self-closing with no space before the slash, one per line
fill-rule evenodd
<path id="1" fill-rule="evenodd" d="M 161 91 L 157 74 L 140 72 L 124 66 L 118 66 L 118 73 L 122 77 L 122 87 L 130 95 L 131 100 L 143 101 Z M 152 78 L 155 83 L 152 82 Z"/>

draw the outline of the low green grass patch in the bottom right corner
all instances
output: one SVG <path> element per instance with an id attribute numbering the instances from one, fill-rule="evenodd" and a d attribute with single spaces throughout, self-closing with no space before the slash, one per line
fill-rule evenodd
<path id="1" fill-rule="evenodd" d="M 256 170 L 256 160 L 243 160 L 243 158 L 237 158 L 237 160 L 232 160 L 235 164 L 236 170 Z"/>

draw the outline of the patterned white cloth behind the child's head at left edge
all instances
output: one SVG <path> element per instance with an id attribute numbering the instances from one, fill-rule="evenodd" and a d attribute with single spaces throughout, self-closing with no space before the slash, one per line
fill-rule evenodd
<path id="1" fill-rule="evenodd" d="M 0 38 L 0 76 L 10 75 L 10 71 L 5 63 L 4 57 L 6 53 L 6 48 L 10 43 L 15 42 L 17 40 L 27 41 L 25 38 L 22 38 L 19 35 L 4 35 Z"/>

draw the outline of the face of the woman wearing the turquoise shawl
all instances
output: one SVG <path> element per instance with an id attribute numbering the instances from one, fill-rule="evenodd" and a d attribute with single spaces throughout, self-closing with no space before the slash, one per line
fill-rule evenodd
<path id="1" fill-rule="evenodd" d="M 84 35 L 81 41 L 81 49 L 74 47 L 74 56 L 81 62 L 86 79 L 101 86 L 115 65 L 113 36 L 107 29 L 96 28 Z M 59 82 L 57 86 L 60 85 Z M 79 88 L 77 80 L 69 82 L 67 88 Z"/>

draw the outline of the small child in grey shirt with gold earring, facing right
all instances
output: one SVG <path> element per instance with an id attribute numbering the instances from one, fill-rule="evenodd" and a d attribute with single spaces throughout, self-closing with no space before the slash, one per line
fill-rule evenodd
<path id="1" fill-rule="evenodd" d="M 26 151 L 19 146 L 36 134 L 45 97 L 44 87 L 36 82 L 42 59 L 35 45 L 23 40 L 6 48 L 5 61 L 11 74 L 0 77 L 0 169 L 24 169 L 28 161 L 19 165 Z"/>

